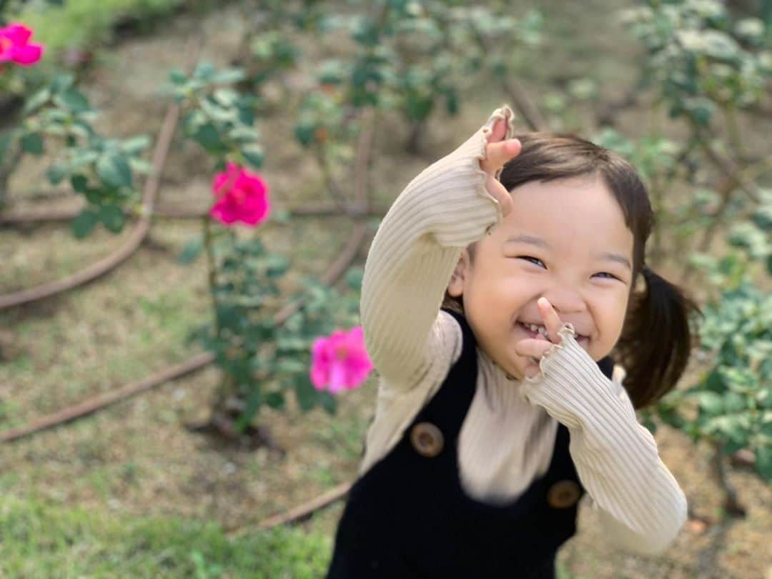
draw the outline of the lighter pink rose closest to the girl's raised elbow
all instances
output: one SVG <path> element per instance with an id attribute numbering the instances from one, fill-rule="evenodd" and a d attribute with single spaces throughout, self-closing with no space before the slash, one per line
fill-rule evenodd
<path id="1" fill-rule="evenodd" d="M 313 342 L 310 376 L 317 390 L 328 390 L 332 394 L 353 390 L 365 381 L 372 369 L 361 326 L 349 332 L 336 330 L 329 337 Z"/>

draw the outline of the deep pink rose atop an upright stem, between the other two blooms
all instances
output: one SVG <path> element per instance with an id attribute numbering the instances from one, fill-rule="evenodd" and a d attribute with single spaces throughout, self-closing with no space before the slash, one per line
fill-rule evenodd
<path id="1" fill-rule="evenodd" d="M 268 218 L 268 185 L 259 174 L 229 163 L 225 171 L 215 175 L 212 191 L 216 199 L 209 215 L 224 225 L 237 221 L 260 225 Z"/>

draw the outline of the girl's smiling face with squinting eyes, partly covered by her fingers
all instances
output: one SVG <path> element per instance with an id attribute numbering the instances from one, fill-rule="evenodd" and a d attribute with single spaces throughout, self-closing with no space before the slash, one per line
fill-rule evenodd
<path id="1" fill-rule="evenodd" d="M 544 325 L 541 296 L 601 360 L 621 335 L 630 296 L 633 235 L 621 208 L 598 175 L 529 181 L 511 194 L 512 212 L 476 243 L 473 259 L 462 252 L 448 293 L 462 296 L 479 347 L 513 378 L 534 364 L 515 344 L 532 337 L 522 323 Z"/>

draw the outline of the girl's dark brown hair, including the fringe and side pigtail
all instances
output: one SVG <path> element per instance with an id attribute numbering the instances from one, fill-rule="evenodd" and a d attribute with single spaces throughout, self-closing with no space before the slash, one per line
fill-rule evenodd
<path id="1" fill-rule="evenodd" d="M 613 151 L 571 134 L 527 133 L 514 135 L 522 151 L 499 174 L 512 191 L 529 181 L 599 175 L 625 215 L 633 235 L 630 300 L 621 337 L 612 357 L 625 368 L 625 389 L 635 408 L 652 404 L 681 378 L 695 330 L 690 327 L 699 307 L 681 288 L 645 265 L 645 246 L 654 225 L 654 213 L 645 185 L 635 168 Z M 474 244 L 470 257 L 474 258 Z M 635 291 L 638 274 L 645 289 Z M 443 307 L 463 312 L 462 300 L 445 293 Z"/>

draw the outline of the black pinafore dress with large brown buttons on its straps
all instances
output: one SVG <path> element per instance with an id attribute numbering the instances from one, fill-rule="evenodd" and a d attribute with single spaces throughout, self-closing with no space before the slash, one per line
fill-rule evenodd
<path id="1" fill-rule="evenodd" d="M 552 578 L 576 532 L 584 489 L 558 425 L 549 469 L 510 503 L 472 499 L 459 479 L 458 441 L 477 382 L 476 340 L 463 346 L 431 401 L 383 459 L 351 487 L 327 579 Z M 610 357 L 598 362 L 611 378 Z"/>

